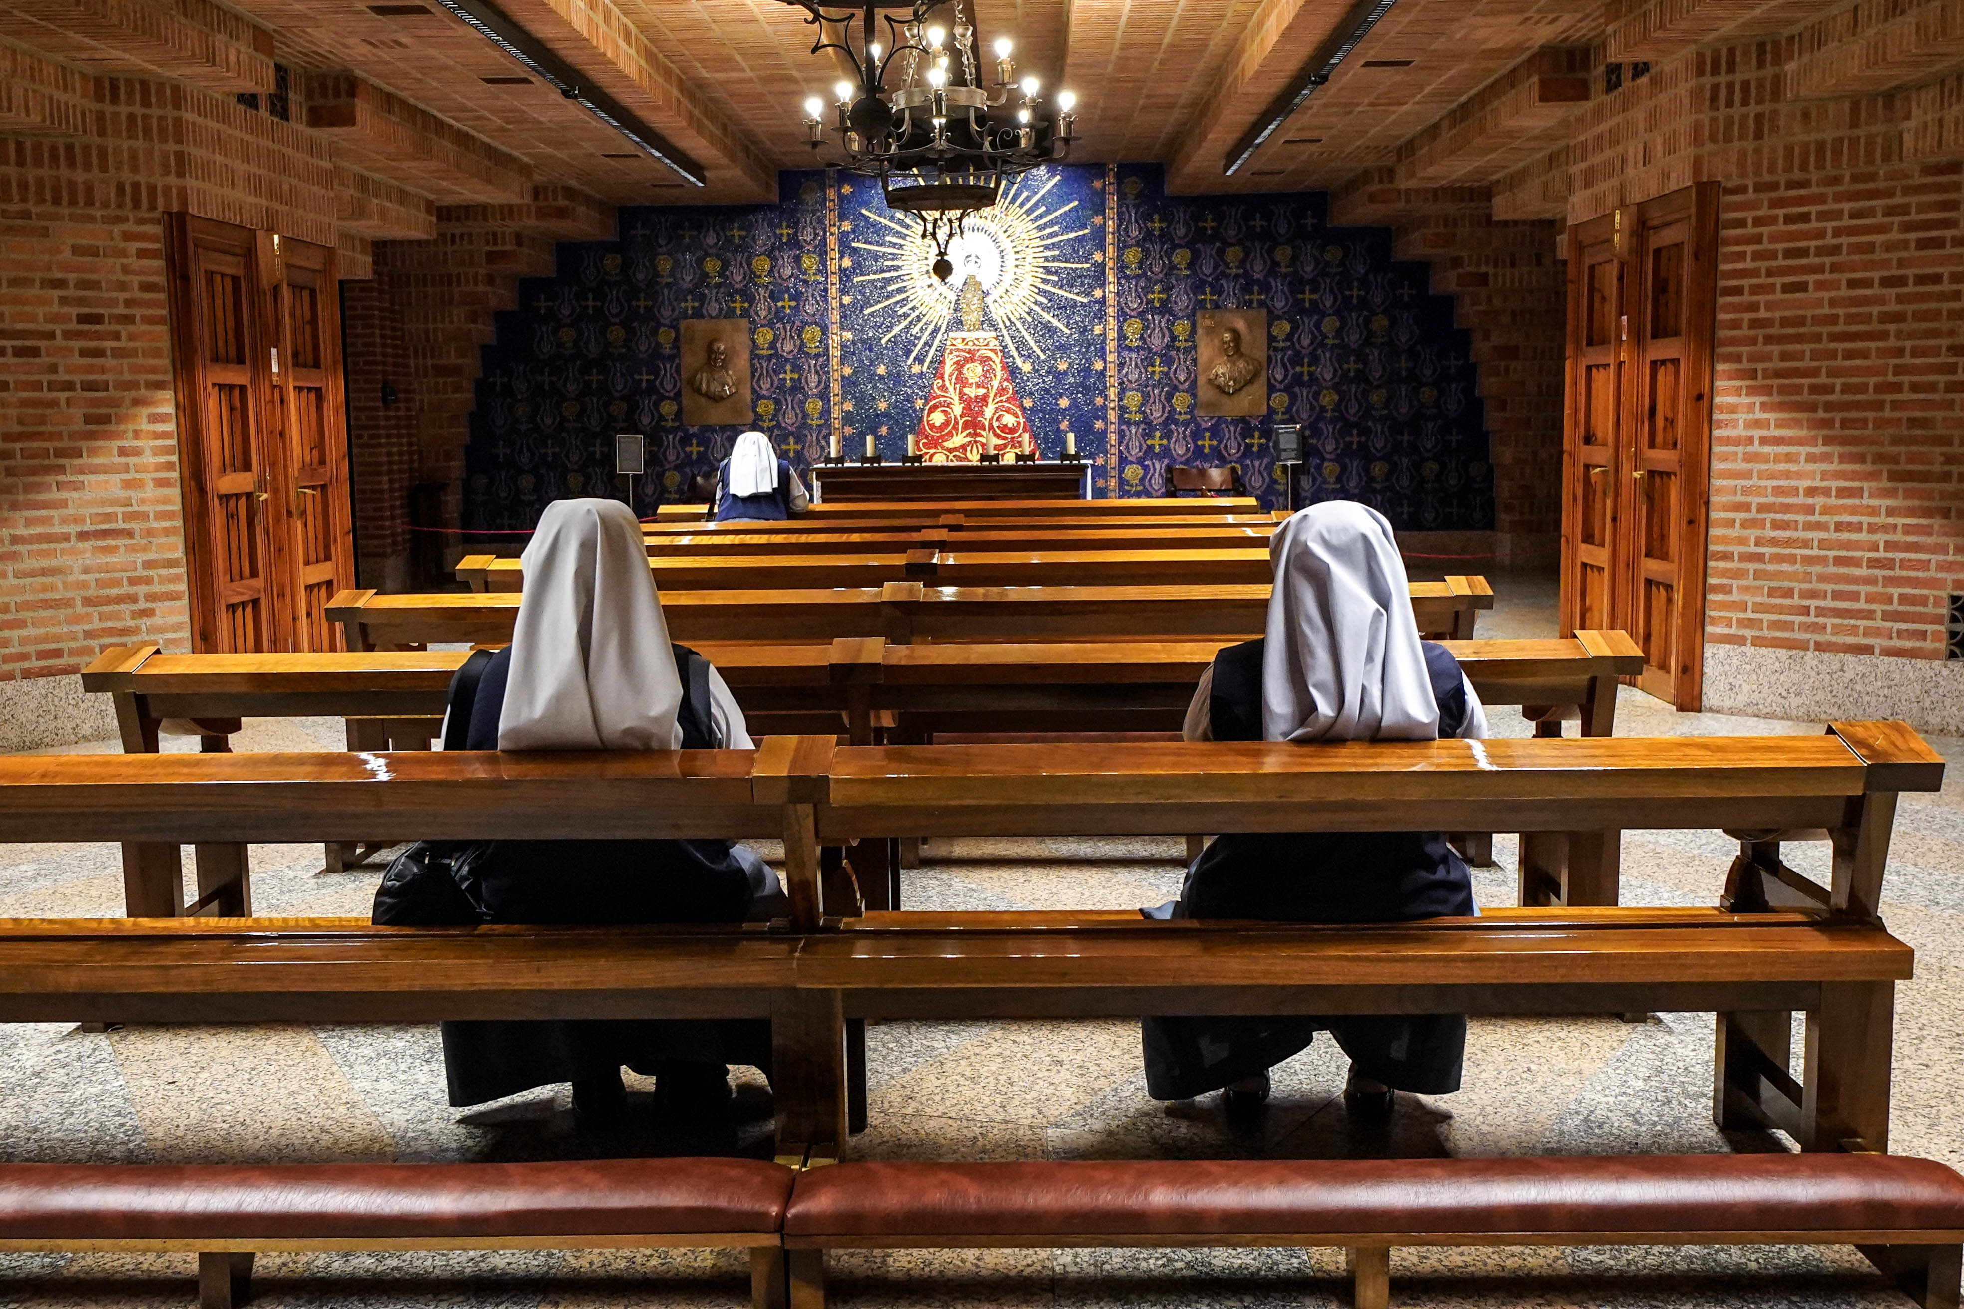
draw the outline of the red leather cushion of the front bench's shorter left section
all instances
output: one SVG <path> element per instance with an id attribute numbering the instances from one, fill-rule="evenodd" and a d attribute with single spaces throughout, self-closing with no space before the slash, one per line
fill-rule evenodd
<path id="1" fill-rule="evenodd" d="M 762 1160 L 568 1164 L 0 1164 L 0 1238 L 776 1232 Z"/>

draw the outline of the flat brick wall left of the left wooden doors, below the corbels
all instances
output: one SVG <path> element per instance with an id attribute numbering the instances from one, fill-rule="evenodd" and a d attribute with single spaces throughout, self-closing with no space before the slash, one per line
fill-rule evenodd
<path id="1" fill-rule="evenodd" d="M 0 681 L 189 648 L 163 224 L 0 208 Z"/>

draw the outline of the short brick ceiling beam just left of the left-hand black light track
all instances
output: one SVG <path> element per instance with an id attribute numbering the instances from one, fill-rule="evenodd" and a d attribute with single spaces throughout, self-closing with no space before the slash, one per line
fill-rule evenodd
<path id="1" fill-rule="evenodd" d="M 532 198 L 532 165 L 354 73 L 310 73 L 306 126 L 348 163 L 442 202 Z"/>

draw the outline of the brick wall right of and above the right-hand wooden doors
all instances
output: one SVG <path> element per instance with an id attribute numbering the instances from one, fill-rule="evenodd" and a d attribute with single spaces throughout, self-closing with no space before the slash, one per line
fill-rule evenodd
<path id="1" fill-rule="evenodd" d="M 1911 157 L 1913 88 L 1789 100 L 1793 53 L 1693 51 L 1591 104 L 1569 220 L 1724 184 L 1707 642 L 1940 659 L 1964 591 L 1964 163 Z"/>

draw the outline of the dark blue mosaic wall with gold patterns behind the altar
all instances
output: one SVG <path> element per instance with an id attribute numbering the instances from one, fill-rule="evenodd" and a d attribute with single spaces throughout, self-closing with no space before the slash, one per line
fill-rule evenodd
<path id="1" fill-rule="evenodd" d="M 976 263 L 1004 269 L 1002 338 L 1043 457 L 1064 432 L 1102 497 L 1165 495 L 1174 463 L 1233 463 L 1271 504 L 1273 424 L 1304 426 L 1294 502 L 1355 498 L 1400 530 L 1493 526 L 1465 334 L 1391 234 L 1330 228 L 1320 192 L 1167 196 L 1157 165 L 1019 179 Z M 797 467 L 872 436 L 907 449 L 951 324 L 927 255 L 876 183 L 786 173 L 770 206 L 625 208 L 617 241 L 560 245 L 485 349 L 465 526 L 526 528 L 566 495 L 621 495 L 613 434 L 648 438 L 636 508 L 713 471 L 740 428 L 682 422 L 680 324 L 746 318 L 756 426 Z M 984 267 L 988 265 L 988 267 Z M 956 275 L 960 281 L 960 273 Z M 1269 312 L 1269 412 L 1196 412 L 1194 316 Z"/>

